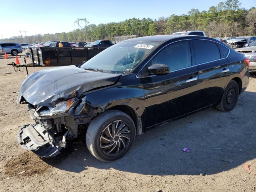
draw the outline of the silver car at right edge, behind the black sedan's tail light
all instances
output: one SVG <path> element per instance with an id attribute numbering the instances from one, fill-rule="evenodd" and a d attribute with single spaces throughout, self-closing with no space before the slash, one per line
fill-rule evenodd
<path id="1" fill-rule="evenodd" d="M 249 71 L 256 72 L 256 40 L 248 47 L 235 49 L 236 52 L 243 53 L 250 60 Z"/>

